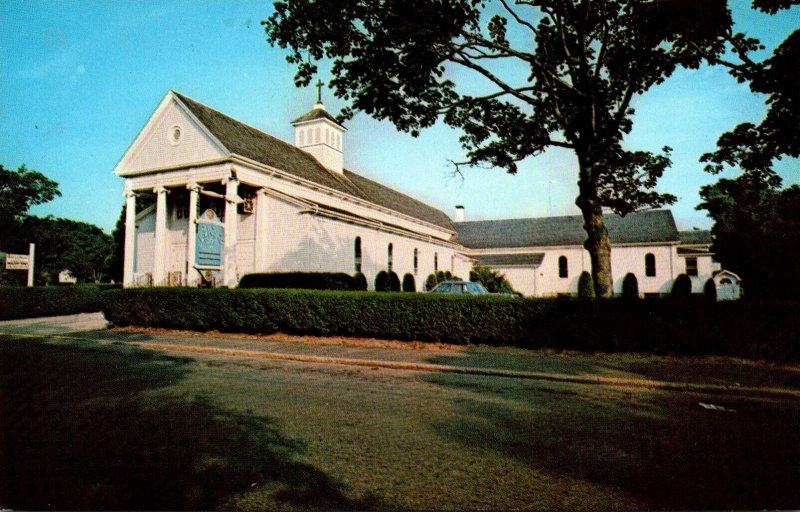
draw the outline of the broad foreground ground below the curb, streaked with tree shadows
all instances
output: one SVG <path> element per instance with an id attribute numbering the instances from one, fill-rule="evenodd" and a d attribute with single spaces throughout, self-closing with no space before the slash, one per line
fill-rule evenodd
<path id="1" fill-rule="evenodd" d="M 0 338 L 0 508 L 787 509 L 799 431 L 796 399 Z"/>

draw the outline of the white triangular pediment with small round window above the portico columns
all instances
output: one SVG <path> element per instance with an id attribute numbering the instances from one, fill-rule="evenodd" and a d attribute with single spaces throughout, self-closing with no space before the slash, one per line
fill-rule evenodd
<path id="1" fill-rule="evenodd" d="M 120 176 L 214 161 L 229 151 L 169 91 L 114 169 Z"/>

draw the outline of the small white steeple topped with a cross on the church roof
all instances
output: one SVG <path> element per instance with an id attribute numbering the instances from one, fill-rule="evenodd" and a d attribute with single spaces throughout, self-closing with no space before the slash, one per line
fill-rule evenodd
<path id="1" fill-rule="evenodd" d="M 325 110 L 322 103 L 323 85 L 321 80 L 317 80 L 317 103 L 292 121 L 294 144 L 331 171 L 341 174 L 344 168 L 343 139 L 347 128 Z"/>

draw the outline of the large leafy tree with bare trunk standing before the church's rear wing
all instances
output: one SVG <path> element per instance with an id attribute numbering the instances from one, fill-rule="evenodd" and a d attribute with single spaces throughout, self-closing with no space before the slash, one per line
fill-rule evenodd
<path id="1" fill-rule="evenodd" d="M 724 0 L 291 0 L 263 24 L 289 49 L 297 85 L 330 62 L 344 118 L 362 111 L 412 135 L 437 119 L 460 129 L 457 167 L 515 173 L 548 148 L 574 151 L 596 294 L 609 297 L 603 207 L 675 200 L 655 190 L 669 148 L 624 144 L 631 102 L 721 55 L 732 20 Z"/>

